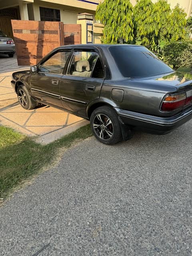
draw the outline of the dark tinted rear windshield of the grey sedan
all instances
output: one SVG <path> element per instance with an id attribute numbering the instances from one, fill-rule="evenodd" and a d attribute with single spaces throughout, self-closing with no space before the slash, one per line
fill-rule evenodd
<path id="1" fill-rule="evenodd" d="M 144 46 L 111 46 L 109 50 L 124 77 L 154 76 L 173 71 Z"/>

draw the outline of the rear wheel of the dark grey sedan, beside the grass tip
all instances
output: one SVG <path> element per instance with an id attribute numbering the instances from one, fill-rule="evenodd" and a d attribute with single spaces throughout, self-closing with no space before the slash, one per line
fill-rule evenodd
<path id="1" fill-rule="evenodd" d="M 111 107 L 96 108 L 90 117 L 90 126 L 97 140 L 104 144 L 122 141 L 122 130 L 118 116 Z"/>

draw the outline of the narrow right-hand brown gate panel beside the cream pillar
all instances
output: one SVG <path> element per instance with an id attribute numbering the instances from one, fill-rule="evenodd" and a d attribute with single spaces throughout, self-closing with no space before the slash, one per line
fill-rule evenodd
<path id="1" fill-rule="evenodd" d="M 81 25 L 63 24 L 62 45 L 81 44 Z"/>

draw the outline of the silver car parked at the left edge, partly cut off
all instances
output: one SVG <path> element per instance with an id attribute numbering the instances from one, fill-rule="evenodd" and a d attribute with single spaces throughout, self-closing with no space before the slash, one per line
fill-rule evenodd
<path id="1" fill-rule="evenodd" d="M 8 54 L 13 57 L 15 53 L 15 43 L 12 38 L 9 38 L 0 30 L 0 54 Z"/>

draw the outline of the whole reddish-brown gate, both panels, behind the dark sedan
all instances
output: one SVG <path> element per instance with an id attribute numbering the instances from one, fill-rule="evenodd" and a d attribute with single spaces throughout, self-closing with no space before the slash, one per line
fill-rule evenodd
<path id="1" fill-rule="evenodd" d="M 37 64 L 58 46 L 81 43 L 80 24 L 32 20 L 11 22 L 20 66 Z"/>

